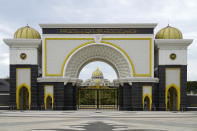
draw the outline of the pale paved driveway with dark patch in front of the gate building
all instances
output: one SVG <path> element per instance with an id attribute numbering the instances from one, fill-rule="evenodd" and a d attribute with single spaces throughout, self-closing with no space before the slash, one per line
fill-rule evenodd
<path id="1" fill-rule="evenodd" d="M 197 112 L 0 111 L 0 131 L 197 131 Z"/>

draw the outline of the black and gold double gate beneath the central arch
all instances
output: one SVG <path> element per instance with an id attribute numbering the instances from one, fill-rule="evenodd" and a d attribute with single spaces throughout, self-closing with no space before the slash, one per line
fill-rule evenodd
<path id="1" fill-rule="evenodd" d="M 118 90 L 110 87 L 81 87 L 78 90 L 79 109 L 117 109 Z"/>

